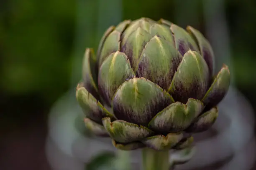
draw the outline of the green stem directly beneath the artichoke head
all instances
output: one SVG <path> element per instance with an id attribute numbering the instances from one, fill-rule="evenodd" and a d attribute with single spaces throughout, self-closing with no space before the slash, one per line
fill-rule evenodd
<path id="1" fill-rule="evenodd" d="M 169 170 L 169 150 L 142 150 L 143 170 Z"/>

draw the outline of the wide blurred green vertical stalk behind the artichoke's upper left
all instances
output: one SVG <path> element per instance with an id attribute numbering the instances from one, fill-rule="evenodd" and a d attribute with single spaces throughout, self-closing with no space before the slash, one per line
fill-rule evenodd
<path id="1" fill-rule="evenodd" d="M 97 45 L 110 25 L 122 20 L 122 0 L 77 0 L 71 87 L 81 78 L 81 61 L 86 47 L 97 51 Z M 106 15 L 107 14 L 107 15 Z"/>

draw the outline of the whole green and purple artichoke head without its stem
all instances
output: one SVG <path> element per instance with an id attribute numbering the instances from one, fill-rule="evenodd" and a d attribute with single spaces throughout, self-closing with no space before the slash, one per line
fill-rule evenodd
<path id="1" fill-rule="evenodd" d="M 188 147 L 215 122 L 230 84 L 226 65 L 213 75 L 202 33 L 163 19 L 111 26 L 96 55 L 86 49 L 82 73 L 76 96 L 85 125 L 121 150 Z"/>

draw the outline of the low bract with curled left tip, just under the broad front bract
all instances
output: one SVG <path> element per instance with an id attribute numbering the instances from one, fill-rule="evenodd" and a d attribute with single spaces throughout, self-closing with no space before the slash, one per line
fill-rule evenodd
<path id="1" fill-rule="evenodd" d="M 109 117 L 103 118 L 102 124 L 108 131 L 110 137 L 119 143 L 135 142 L 154 134 L 154 132 L 148 128 L 134 123 L 123 120 L 111 122 Z"/>

